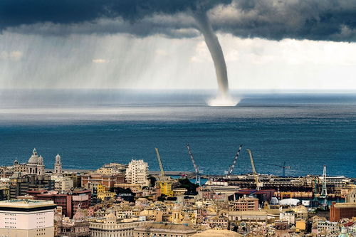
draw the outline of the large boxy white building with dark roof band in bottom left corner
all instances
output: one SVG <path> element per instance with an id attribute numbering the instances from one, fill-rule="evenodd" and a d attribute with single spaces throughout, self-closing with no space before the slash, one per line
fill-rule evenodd
<path id="1" fill-rule="evenodd" d="M 54 236 L 53 201 L 0 201 L 0 236 Z"/>

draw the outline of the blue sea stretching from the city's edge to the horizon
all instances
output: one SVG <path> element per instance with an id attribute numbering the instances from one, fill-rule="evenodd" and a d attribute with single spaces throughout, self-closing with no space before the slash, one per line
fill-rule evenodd
<path id="1" fill-rule="evenodd" d="M 204 174 L 356 177 L 356 93 L 232 91 L 235 107 L 209 107 L 213 90 L 1 90 L 0 165 L 26 162 L 33 147 L 53 167 L 97 169 L 144 159 L 159 170 L 192 172 L 185 145 Z"/>

